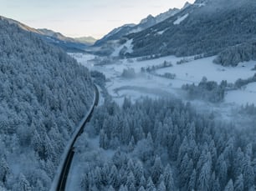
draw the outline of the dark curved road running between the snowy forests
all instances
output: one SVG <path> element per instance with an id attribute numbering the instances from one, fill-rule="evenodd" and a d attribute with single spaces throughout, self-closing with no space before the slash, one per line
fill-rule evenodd
<path id="1" fill-rule="evenodd" d="M 86 123 L 90 122 L 90 118 L 92 116 L 92 113 L 94 112 L 95 106 L 97 106 L 98 103 L 99 103 L 99 90 L 95 86 L 95 104 L 94 104 L 93 108 L 91 109 L 91 111 L 88 115 L 88 118 L 86 118 L 84 120 L 84 123 L 82 123 L 82 125 L 79 129 L 79 132 L 75 135 L 75 138 L 74 138 L 73 142 L 71 143 L 71 146 L 69 148 L 69 153 L 67 154 L 67 157 L 64 160 L 64 166 L 61 169 L 61 173 L 60 173 L 60 176 L 59 176 L 59 182 L 58 182 L 58 186 L 57 186 L 58 191 L 65 190 L 66 181 L 67 181 L 67 178 L 68 178 L 68 175 L 69 175 L 69 168 L 70 168 L 70 165 L 72 163 L 72 159 L 74 157 L 74 150 L 73 150 L 74 149 L 74 143 L 75 143 L 76 139 L 84 132 L 84 126 L 85 126 Z"/>

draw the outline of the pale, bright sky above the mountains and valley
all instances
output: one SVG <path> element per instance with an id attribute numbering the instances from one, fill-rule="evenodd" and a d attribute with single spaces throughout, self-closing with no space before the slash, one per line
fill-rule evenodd
<path id="1" fill-rule="evenodd" d="M 0 14 L 32 28 L 49 28 L 69 37 L 101 38 L 149 14 L 182 8 L 195 0 L 0 0 Z"/>

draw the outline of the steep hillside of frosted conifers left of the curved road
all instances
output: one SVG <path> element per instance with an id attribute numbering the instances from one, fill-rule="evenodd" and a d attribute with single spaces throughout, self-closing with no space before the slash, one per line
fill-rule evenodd
<path id="1" fill-rule="evenodd" d="M 92 104 L 90 73 L 16 24 L 0 28 L 0 190 L 49 190 Z"/>

